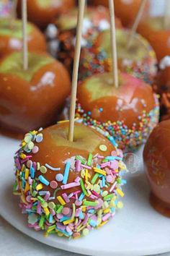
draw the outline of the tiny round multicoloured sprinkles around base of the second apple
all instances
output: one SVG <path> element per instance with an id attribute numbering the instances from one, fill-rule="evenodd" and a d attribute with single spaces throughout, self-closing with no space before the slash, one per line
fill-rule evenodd
<path id="1" fill-rule="evenodd" d="M 143 113 L 138 116 L 138 127 L 135 123 L 132 127 L 127 127 L 123 120 L 108 120 L 107 122 L 102 122 L 93 119 L 91 117 L 91 111 L 86 113 L 81 107 L 81 103 L 76 104 L 76 119 L 89 127 L 97 129 L 97 131 L 107 137 L 114 146 L 117 144 L 119 145 L 119 148 L 124 151 L 136 150 L 140 145 L 146 142 L 148 135 L 150 135 L 151 131 L 158 123 L 158 95 L 154 94 L 154 98 L 154 108 L 149 113 L 146 113 L 146 110 L 144 109 Z M 101 111 L 102 108 L 99 108 L 99 112 Z"/>

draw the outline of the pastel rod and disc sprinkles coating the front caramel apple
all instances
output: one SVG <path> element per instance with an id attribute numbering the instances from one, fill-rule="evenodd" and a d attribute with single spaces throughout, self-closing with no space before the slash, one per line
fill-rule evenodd
<path id="1" fill-rule="evenodd" d="M 63 166 L 50 166 L 33 161 L 40 150 L 43 133 L 29 132 L 14 156 L 16 182 L 14 195 L 19 195 L 22 213 L 28 215 L 28 226 L 45 231 L 45 236 L 58 234 L 68 238 L 86 236 L 103 226 L 122 208 L 122 178 L 127 171 L 122 150 L 115 148 L 107 157 L 107 145 L 99 145 L 99 153 L 66 159 Z M 53 172 L 55 179 L 47 179 Z M 68 182 L 70 172 L 76 179 Z M 53 175 L 52 175 L 53 176 Z M 49 177 L 49 176 L 48 176 Z"/>

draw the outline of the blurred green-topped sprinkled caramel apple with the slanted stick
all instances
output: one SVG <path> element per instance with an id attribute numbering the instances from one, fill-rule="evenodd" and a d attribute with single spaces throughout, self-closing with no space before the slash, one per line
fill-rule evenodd
<path id="1" fill-rule="evenodd" d="M 129 48 L 127 42 L 130 38 L 130 30 L 117 30 L 117 61 L 122 72 L 132 74 L 147 83 L 153 83 L 157 72 L 156 54 L 150 44 L 135 33 Z M 104 30 L 82 48 L 79 69 L 79 80 L 92 74 L 110 72 L 112 70 L 112 47 L 110 32 Z"/>

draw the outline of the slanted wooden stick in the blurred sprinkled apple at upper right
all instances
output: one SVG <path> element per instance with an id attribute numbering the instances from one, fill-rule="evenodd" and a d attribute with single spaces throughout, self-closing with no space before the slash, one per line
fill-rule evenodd
<path id="1" fill-rule="evenodd" d="M 133 27 L 131 28 L 131 31 L 130 31 L 130 36 L 129 36 L 129 39 L 128 39 L 127 48 L 130 47 L 130 43 L 131 43 L 131 41 L 132 41 L 133 35 L 134 35 L 134 33 L 136 32 L 136 30 L 137 30 L 137 27 L 138 27 L 139 22 L 140 22 L 140 19 L 141 19 L 141 17 L 142 17 L 144 8 L 145 8 L 145 6 L 146 6 L 146 1 L 147 1 L 147 0 L 141 0 L 141 1 L 140 1 L 140 7 L 139 7 L 139 10 L 138 10 L 138 14 L 137 14 L 136 17 L 135 17 L 135 21 L 134 21 L 134 23 L 133 23 Z"/>

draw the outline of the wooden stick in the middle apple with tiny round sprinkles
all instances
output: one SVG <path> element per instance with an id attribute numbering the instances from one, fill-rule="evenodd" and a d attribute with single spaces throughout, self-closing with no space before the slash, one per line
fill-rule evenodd
<path id="1" fill-rule="evenodd" d="M 118 88 L 117 46 L 116 46 L 114 0 L 109 0 L 109 16 L 110 16 L 110 37 L 111 37 L 111 46 L 112 46 L 113 81 L 114 81 L 115 88 Z"/>

